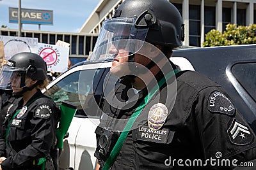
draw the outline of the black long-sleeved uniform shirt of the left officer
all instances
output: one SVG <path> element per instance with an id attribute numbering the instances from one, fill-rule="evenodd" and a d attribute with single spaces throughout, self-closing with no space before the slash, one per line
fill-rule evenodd
<path id="1" fill-rule="evenodd" d="M 0 153 L 7 158 L 1 164 L 3 170 L 38 168 L 38 159 L 48 157 L 51 146 L 54 145 L 60 118 L 60 110 L 56 104 L 40 90 L 29 99 L 29 105 L 26 104 L 28 106 L 22 107 L 23 99 L 18 100 L 10 108 L 1 129 Z M 19 114 L 12 120 L 18 110 Z M 10 131 L 6 137 L 9 122 Z M 3 155 L 5 152 L 6 155 Z"/>

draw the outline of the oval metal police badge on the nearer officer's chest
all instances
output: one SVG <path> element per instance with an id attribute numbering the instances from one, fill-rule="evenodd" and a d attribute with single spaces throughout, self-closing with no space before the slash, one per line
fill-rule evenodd
<path id="1" fill-rule="evenodd" d="M 168 116 L 168 108 L 163 103 L 154 104 L 148 111 L 148 127 L 159 130 Z"/>

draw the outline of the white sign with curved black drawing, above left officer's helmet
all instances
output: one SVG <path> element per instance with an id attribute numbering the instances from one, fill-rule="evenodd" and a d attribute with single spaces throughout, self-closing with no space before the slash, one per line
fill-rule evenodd
<path id="1" fill-rule="evenodd" d="M 0 41 L 4 42 L 4 57 L 9 60 L 13 55 L 20 52 L 31 52 L 38 44 L 37 38 L 0 36 Z"/>

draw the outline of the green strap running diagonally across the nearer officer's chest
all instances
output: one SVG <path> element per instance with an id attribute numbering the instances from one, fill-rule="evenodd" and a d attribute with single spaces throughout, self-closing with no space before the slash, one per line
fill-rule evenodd
<path id="1" fill-rule="evenodd" d="M 174 74 L 177 74 L 177 73 L 179 73 L 179 70 L 175 69 L 174 71 L 166 74 L 167 80 L 170 79 Z M 155 87 L 147 94 L 147 96 L 144 98 L 144 100 L 141 101 L 138 108 L 136 108 L 136 110 L 132 114 L 131 118 L 129 118 L 129 121 L 125 125 L 124 131 L 120 134 L 118 140 L 116 141 L 116 145 L 114 146 L 114 148 L 111 151 L 108 159 L 106 160 L 106 162 L 104 164 L 104 167 L 103 167 L 103 170 L 108 170 L 113 165 L 118 153 L 120 152 L 122 146 L 124 145 L 124 141 L 125 141 L 128 133 L 129 133 L 129 131 L 131 130 L 131 127 L 134 124 L 135 120 L 140 115 L 143 108 L 145 108 L 145 105 L 148 103 L 148 101 L 151 99 L 151 97 L 154 96 L 154 94 L 156 94 L 157 89 L 160 89 L 164 85 L 165 82 L 166 82 L 165 78 L 162 78 L 158 82 L 158 84 L 155 85 Z"/>

